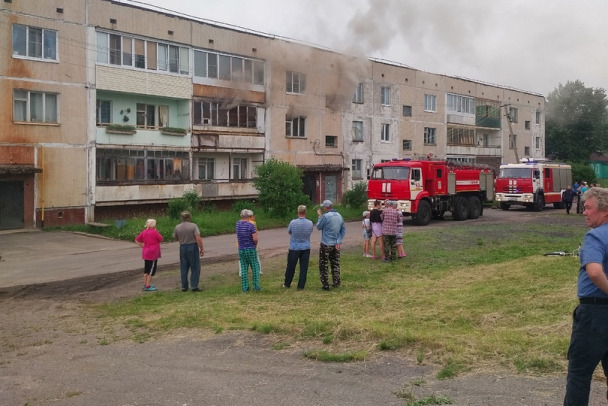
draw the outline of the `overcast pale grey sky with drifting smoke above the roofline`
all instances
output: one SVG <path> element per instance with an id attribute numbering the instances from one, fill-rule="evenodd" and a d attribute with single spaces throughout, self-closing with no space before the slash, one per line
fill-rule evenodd
<path id="1" fill-rule="evenodd" d="M 607 87 L 605 0 L 132 2 L 545 96 Z"/>

